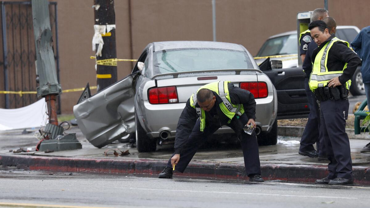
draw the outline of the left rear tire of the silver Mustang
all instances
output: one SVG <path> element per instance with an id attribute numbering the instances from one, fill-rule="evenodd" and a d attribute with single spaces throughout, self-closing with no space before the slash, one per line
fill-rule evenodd
<path id="1" fill-rule="evenodd" d="M 135 138 L 136 147 L 139 152 L 154 152 L 157 149 L 157 142 L 147 136 L 142 128 L 138 116 L 135 113 Z"/>

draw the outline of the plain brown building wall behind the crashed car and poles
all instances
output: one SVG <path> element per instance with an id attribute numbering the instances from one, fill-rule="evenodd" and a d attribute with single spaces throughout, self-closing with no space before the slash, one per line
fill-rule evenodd
<path id="1" fill-rule="evenodd" d="M 62 88 L 84 87 L 87 82 L 95 86 L 95 63 L 89 58 L 94 56 L 93 0 L 56 2 Z M 329 15 L 339 25 L 360 29 L 369 25 L 368 0 L 328 2 Z M 211 0 L 115 0 L 114 3 L 118 58 L 136 59 L 153 41 L 213 39 Z M 268 37 L 296 30 L 297 12 L 323 6 L 324 0 L 216 0 L 216 38 L 242 44 L 255 55 Z M 130 62 L 119 62 L 118 80 L 127 76 L 131 68 Z M 96 90 L 92 90 L 94 93 Z M 72 113 L 80 95 L 81 92 L 62 94 L 61 112 Z"/>

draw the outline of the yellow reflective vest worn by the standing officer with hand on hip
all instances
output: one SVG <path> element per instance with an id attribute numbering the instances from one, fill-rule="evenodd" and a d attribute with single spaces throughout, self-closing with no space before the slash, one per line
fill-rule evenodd
<path id="1" fill-rule="evenodd" d="M 349 47 L 349 43 L 344 40 L 340 40 L 337 37 L 334 37 L 332 40 L 328 41 L 324 47 L 321 48 L 319 53 L 317 53 L 316 58 L 313 63 L 312 73 L 310 76 L 309 86 L 310 90 L 314 91 L 315 89 L 319 87 L 325 87 L 327 86 L 327 82 L 331 80 L 334 77 L 339 77 L 343 74 L 343 70 L 347 68 L 347 63 L 344 64 L 344 67 L 340 71 L 328 71 L 327 69 L 327 57 L 330 51 L 330 48 L 332 48 L 333 44 L 336 41 L 342 41 L 343 43 L 346 43 L 346 45 Z M 346 82 L 346 88 L 349 90 L 349 87 L 351 86 L 351 80 L 348 80 Z"/>

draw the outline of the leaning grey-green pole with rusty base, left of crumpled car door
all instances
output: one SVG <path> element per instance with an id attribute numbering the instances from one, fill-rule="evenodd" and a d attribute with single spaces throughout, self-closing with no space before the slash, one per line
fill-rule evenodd
<path id="1" fill-rule="evenodd" d="M 58 125 L 55 99 L 62 93 L 62 88 L 58 83 L 55 69 L 48 1 L 32 0 L 32 16 L 36 47 L 36 75 L 39 80 L 37 96 L 44 97 L 46 100 L 49 123 Z"/>

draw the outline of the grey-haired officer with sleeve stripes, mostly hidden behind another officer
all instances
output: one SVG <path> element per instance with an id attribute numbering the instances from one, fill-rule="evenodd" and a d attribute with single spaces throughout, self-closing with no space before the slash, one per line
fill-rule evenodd
<path id="1" fill-rule="evenodd" d="M 311 20 L 322 20 L 328 17 L 328 11 L 326 9 L 315 9 L 312 12 Z M 311 38 L 310 30 L 306 30 L 300 34 L 300 54 L 303 61 L 302 68 L 305 72 L 305 91 L 308 100 L 308 106 L 310 108 L 310 114 L 308 115 L 307 124 L 303 131 L 302 138 L 300 141 L 300 147 L 298 153 L 300 155 L 308 157 L 319 157 L 319 160 L 326 160 L 326 154 L 324 153 L 323 136 L 320 134 L 320 114 L 319 107 L 316 103 L 316 99 L 308 86 L 309 77 L 312 71 L 311 56 L 314 48 L 317 45 Z M 316 148 L 313 144 L 316 142 Z"/>

